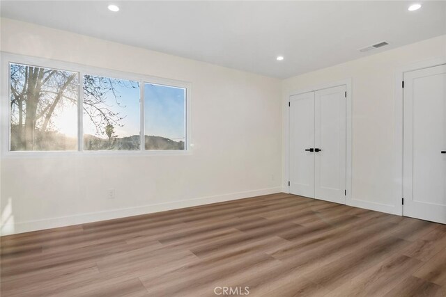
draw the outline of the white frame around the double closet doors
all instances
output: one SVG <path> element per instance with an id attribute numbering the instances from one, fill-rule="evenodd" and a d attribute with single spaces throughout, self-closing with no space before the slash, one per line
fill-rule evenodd
<path id="1" fill-rule="evenodd" d="M 352 109 L 353 109 L 353 94 L 352 94 L 352 79 L 343 79 L 341 81 L 333 81 L 329 83 L 321 83 L 310 88 L 301 88 L 298 90 L 293 90 L 292 92 L 286 94 L 284 97 L 284 146 L 283 146 L 283 180 L 282 180 L 282 192 L 289 193 L 289 177 L 290 177 L 290 110 L 289 110 L 289 97 L 293 95 L 299 95 L 302 93 L 313 92 L 316 90 L 323 90 L 326 88 L 333 88 L 337 86 L 346 86 L 346 204 L 350 205 L 352 201 L 351 195 L 351 179 L 352 179 Z"/>

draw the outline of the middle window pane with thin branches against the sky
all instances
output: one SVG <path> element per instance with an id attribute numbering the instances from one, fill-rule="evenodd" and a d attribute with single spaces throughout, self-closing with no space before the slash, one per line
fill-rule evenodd
<path id="1" fill-rule="evenodd" d="M 84 76 L 84 150 L 140 150 L 139 83 Z"/>

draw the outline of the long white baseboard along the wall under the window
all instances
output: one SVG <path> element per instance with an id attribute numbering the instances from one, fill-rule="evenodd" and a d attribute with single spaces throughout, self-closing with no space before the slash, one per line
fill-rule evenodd
<path id="1" fill-rule="evenodd" d="M 59 218 L 47 218 L 44 220 L 29 220 L 26 222 L 7 223 L 1 226 L 1 236 L 31 232 L 36 230 L 45 230 L 56 227 L 66 227 L 70 225 L 92 223 L 100 220 L 112 220 L 114 218 L 125 218 L 127 216 L 138 216 L 141 214 L 151 214 L 159 211 L 171 209 L 180 209 L 184 207 L 194 207 L 197 205 L 210 204 L 215 202 L 224 202 L 241 198 L 249 198 L 260 195 L 269 195 L 279 193 L 281 187 L 263 188 L 260 190 L 243 191 L 238 193 L 229 193 L 224 195 L 208 196 L 203 198 L 194 198 L 190 200 L 177 200 L 174 202 L 142 205 L 138 207 L 128 207 L 125 209 L 113 209 L 109 211 L 98 211 L 89 214 L 78 214 L 74 216 L 63 216 Z"/>

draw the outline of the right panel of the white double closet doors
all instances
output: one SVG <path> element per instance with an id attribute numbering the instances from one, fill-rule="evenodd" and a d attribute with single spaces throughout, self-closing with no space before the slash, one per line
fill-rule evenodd
<path id="1" fill-rule="evenodd" d="M 345 204 L 346 86 L 316 91 L 315 109 L 314 198 Z"/>

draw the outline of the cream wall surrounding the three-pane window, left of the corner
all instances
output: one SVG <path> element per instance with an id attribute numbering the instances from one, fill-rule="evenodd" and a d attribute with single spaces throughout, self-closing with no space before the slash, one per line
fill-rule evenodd
<path id="1" fill-rule="evenodd" d="M 10 19 L 1 51 L 190 81 L 194 143 L 178 156 L 3 158 L 3 234 L 281 190 L 277 79 Z"/>

